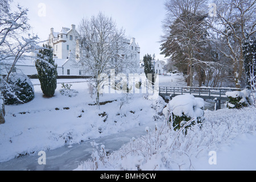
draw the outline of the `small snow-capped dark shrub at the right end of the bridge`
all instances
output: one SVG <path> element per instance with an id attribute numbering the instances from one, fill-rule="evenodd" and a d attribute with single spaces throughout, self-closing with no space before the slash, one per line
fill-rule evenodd
<path id="1" fill-rule="evenodd" d="M 226 102 L 226 107 L 229 109 L 241 109 L 250 105 L 250 90 L 226 92 L 229 101 Z"/>

